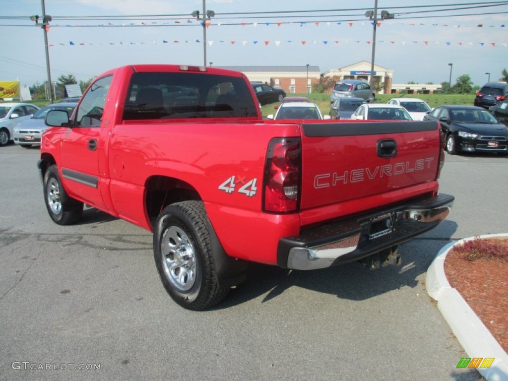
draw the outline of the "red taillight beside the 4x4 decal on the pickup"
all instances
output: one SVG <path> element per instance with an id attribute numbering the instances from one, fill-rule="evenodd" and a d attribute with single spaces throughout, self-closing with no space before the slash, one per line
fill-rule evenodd
<path id="1" fill-rule="evenodd" d="M 298 210 L 302 150 L 300 138 L 274 138 L 268 145 L 264 177 L 264 211 Z"/>

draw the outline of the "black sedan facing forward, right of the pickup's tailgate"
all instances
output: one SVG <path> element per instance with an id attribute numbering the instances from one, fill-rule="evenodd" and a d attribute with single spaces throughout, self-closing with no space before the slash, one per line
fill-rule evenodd
<path id="1" fill-rule="evenodd" d="M 477 106 L 439 106 L 424 120 L 437 120 L 446 136 L 446 150 L 458 152 L 500 152 L 506 154 L 508 127 Z"/>

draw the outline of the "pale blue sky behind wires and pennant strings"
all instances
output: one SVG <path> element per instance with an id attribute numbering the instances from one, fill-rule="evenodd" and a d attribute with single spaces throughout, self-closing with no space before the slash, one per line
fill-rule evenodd
<path id="1" fill-rule="evenodd" d="M 426 10 L 423 7 L 396 8 L 458 3 L 474 1 L 378 0 L 378 14 L 387 10 L 395 18 L 380 21 L 377 27 L 375 63 L 394 71 L 394 83 L 448 81 L 449 63 L 453 63 L 452 83 L 468 74 L 474 84 L 482 85 L 488 79 L 486 72 L 497 80 L 508 69 L 508 5 L 439 14 L 406 14 Z M 207 10 L 216 14 L 206 28 L 207 62 L 213 66 L 308 63 L 321 72 L 370 62 L 373 27 L 363 14 L 373 7 L 374 0 L 207 0 Z M 29 20 L 31 15 L 42 15 L 41 1 L 2 0 L 2 8 L 0 81 L 42 83 L 47 80 L 44 35 Z M 203 27 L 190 16 L 194 10 L 202 11 L 202 0 L 45 0 L 45 8 L 53 17 L 48 33 L 53 81 L 61 74 L 87 80 L 130 63 L 203 64 Z M 339 9 L 343 11 L 331 11 Z M 283 13 L 308 10 L 325 12 Z M 274 13 L 226 15 L 241 12 Z M 442 17 L 450 14 L 467 15 Z M 120 18 L 125 15 L 140 17 Z M 266 15 L 270 17 L 261 17 Z M 420 18 L 430 15 L 440 17 Z"/>

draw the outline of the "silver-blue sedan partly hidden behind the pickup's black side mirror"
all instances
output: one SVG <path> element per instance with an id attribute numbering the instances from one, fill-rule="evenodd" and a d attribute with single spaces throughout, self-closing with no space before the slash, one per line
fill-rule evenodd
<path id="1" fill-rule="evenodd" d="M 69 118 L 76 107 L 76 102 L 60 102 L 43 107 L 37 111 L 31 118 L 20 122 L 13 129 L 14 144 L 28 148 L 33 145 L 41 145 L 41 135 L 48 126 L 44 123 L 46 114 L 51 110 L 67 111 Z"/>

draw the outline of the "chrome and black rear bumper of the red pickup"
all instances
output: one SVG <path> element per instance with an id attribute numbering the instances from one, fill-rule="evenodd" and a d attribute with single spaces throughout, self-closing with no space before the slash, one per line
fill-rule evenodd
<path id="1" fill-rule="evenodd" d="M 440 194 L 282 238 L 277 263 L 312 270 L 359 260 L 433 229 L 448 216 L 453 201 Z"/>

